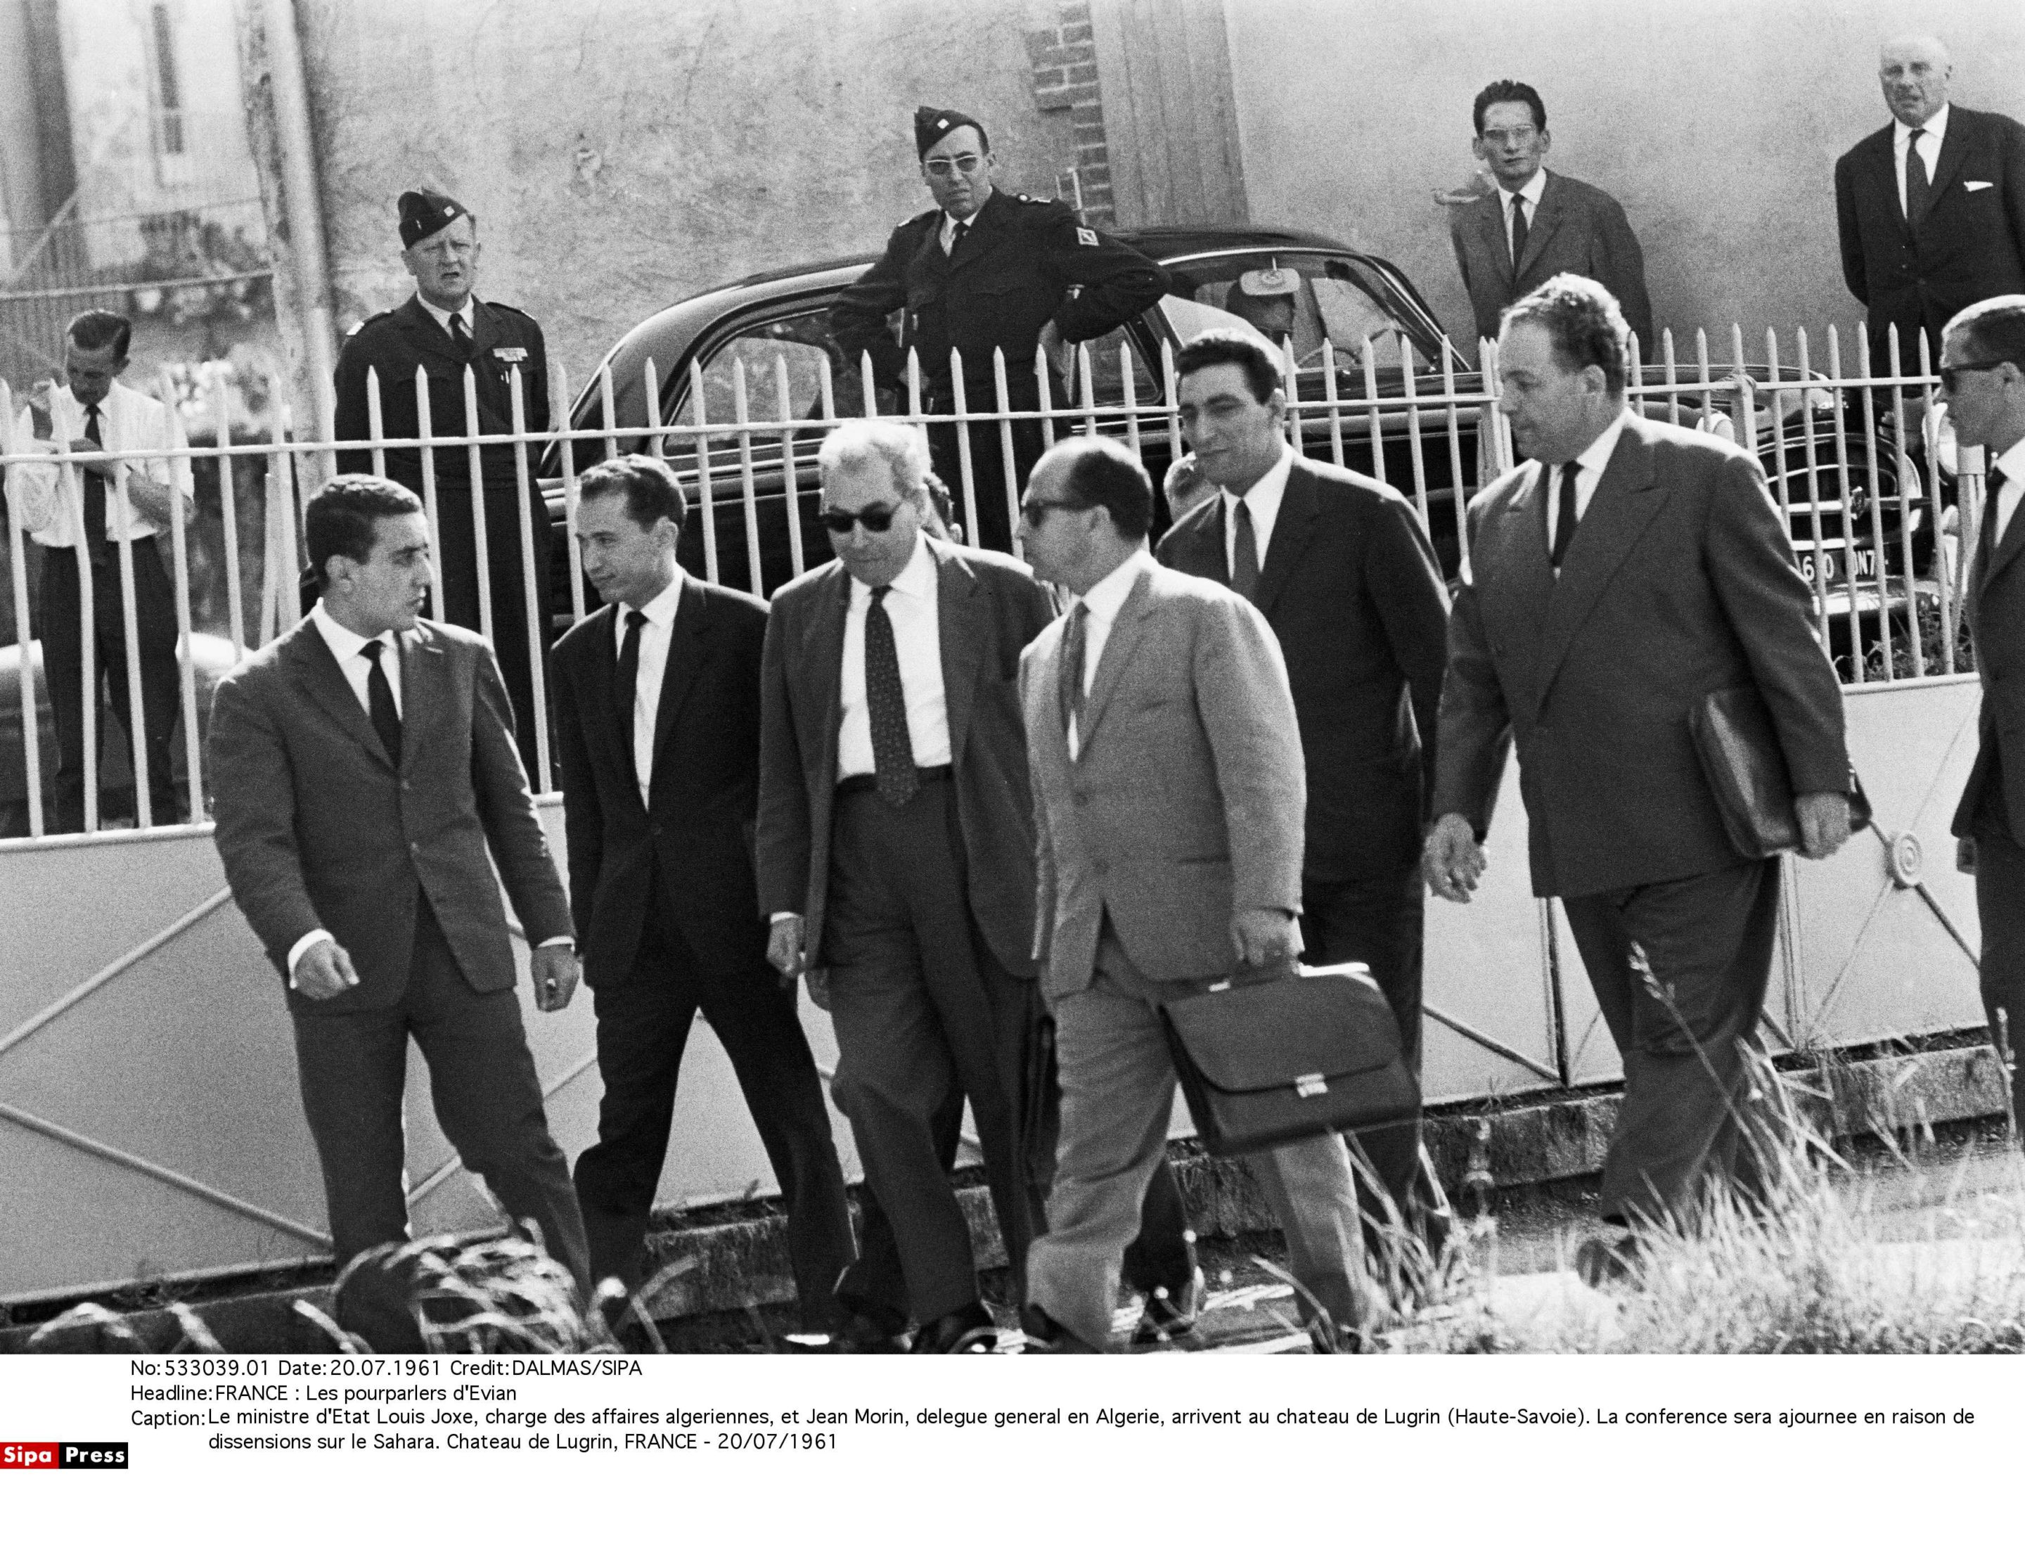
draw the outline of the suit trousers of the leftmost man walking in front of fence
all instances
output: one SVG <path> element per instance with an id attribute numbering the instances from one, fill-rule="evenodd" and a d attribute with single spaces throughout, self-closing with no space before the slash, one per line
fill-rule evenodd
<path id="1" fill-rule="evenodd" d="M 290 1014 L 340 1269 L 364 1249 L 409 1237 L 401 1091 L 413 1033 L 437 1124 L 464 1166 L 508 1217 L 531 1219 L 589 1292 L 583 1217 L 569 1162 L 549 1136 L 520 998 L 512 988 L 480 994 L 470 986 L 425 895 L 417 893 L 413 962 L 397 1004 L 326 1012 L 290 998 Z"/>

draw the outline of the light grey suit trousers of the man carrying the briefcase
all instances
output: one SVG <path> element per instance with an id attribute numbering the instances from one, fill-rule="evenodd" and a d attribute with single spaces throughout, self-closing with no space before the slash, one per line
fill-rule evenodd
<path id="1" fill-rule="evenodd" d="M 1047 1231 L 1027 1255 L 1027 1300 L 1094 1346 L 1110 1336 L 1122 1253 L 1166 1154 L 1177 1077 L 1160 1004 L 1197 990 L 1146 978 L 1106 921 L 1089 988 L 1055 1002 L 1061 1152 Z M 1310 1136 L 1245 1164 L 1286 1233 L 1294 1280 L 1339 1324 L 1359 1324 L 1363 1233 L 1343 1136 Z"/>

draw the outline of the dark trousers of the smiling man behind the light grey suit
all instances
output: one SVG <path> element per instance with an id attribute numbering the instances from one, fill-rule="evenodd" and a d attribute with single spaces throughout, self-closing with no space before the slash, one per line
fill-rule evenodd
<path id="1" fill-rule="evenodd" d="M 1336 962 L 1363 962 L 1371 968 L 1379 992 L 1399 1022 L 1399 1049 L 1413 1079 L 1420 1079 L 1420 988 L 1422 988 L 1422 927 L 1428 917 L 1428 889 L 1420 863 L 1403 871 L 1363 881 L 1300 883 L 1302 962 L 1326 968 Z M 1448 1239 L 1448 1195 L 1434 1174 L 1434 1158 L 1420 1138 L 1420 1116 L 1399 1124 L 1347 1132 L 1363 1146 L 1377 1176 L 1371 1184 L 1359 1174 L 1357 1201 L 1373 1227 L 1391 1223 L 1391 1209 L 1440 1253 Z M 1383 1193 L 1379 1193 L 1383 1189 Z M 1391 1209 L 1385 1205 L 1391 1199 Z"/>

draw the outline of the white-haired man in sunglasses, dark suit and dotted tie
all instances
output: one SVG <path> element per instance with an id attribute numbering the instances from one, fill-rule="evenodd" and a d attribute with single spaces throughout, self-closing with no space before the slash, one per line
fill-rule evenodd
<path id="1" fill-rule="evenodd" d="M 840 1350 L 994 1344 L 948 1180 L 968 1095 L 1006 1259 L 1031 1239 L 1033 812 L 1012 678 L 1053 601 L 1021 563 L 934 541 L 927 441 L 846 421 L 820 449 L 836 561 L 774 595 L 761 654 L 767 962 L 836 1027 L 836 1105 L 877 1201 L 838 1286 Z"/>

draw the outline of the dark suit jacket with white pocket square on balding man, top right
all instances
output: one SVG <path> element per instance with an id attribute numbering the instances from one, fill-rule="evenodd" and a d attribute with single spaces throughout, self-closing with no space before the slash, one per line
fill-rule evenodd
<path id="1" fill-rule="evenodd" d="M 1932 334 L 1938 356 L 1942 326 L 1968 304 L 2025 292 L 2025 126 L 1950 105 L 1918 231 L 1899 211 L 1891 134 L 1885 126 L 1865 136 L 1835 164 L 1843 279 L 1869 310 L 1877 373 L 1889 326 L 1901 366 L 1916 371 L 1916 330 Z"/>

